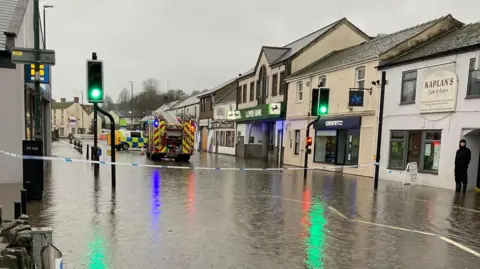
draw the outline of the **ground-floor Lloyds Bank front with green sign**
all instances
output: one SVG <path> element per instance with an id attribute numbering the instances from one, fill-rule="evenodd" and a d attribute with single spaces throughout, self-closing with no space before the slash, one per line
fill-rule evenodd
<path id="1" fill-rule="evenodd" d="M 272 103 L 240 109 L 237 123 L 237 156 L 281 162 L 285 104 Z"/>

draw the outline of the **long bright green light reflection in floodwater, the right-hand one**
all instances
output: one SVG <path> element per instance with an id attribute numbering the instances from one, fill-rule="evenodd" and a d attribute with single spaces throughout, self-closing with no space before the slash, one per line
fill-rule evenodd
<path id="1" fill-rule="evenodd" d="M 324 268 L 323 255 L 326 245 L 325 226 L 327 225 L 327 219 L 325 218 L 325 205 L 320 199 L 313 199 L 308 216 L 310 225 L 308 236 L 305 239 L 307 245 L 307 260 L 305 263 L 309 269 Z"/>

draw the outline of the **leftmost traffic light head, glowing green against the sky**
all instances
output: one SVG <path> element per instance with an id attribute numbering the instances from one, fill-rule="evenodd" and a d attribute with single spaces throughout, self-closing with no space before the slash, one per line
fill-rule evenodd
<path id="1" fill-rule="evenodd" d="M 87 61 L 87 100 L 89 103 L 103 103 L 102 61 Z"/>

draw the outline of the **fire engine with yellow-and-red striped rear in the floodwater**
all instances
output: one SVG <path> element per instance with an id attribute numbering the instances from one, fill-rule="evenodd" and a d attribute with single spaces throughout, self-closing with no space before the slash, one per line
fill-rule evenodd
<path id="1" fill-rule="evenodd" d="M 145 122 L 145 136 L 147 158 L 188 162 L 194 150 L 195 121 L 179 120 L 171 112 L 160 110 Z"/>

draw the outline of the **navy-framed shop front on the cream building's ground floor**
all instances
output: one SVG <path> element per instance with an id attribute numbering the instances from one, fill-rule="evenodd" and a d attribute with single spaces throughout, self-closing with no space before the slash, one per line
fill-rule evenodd
<path id="1" fill-rule="evenodd" d="M 361 117 L 324 119 L 315 128 L 313 162 L 358 165 Z"/>

